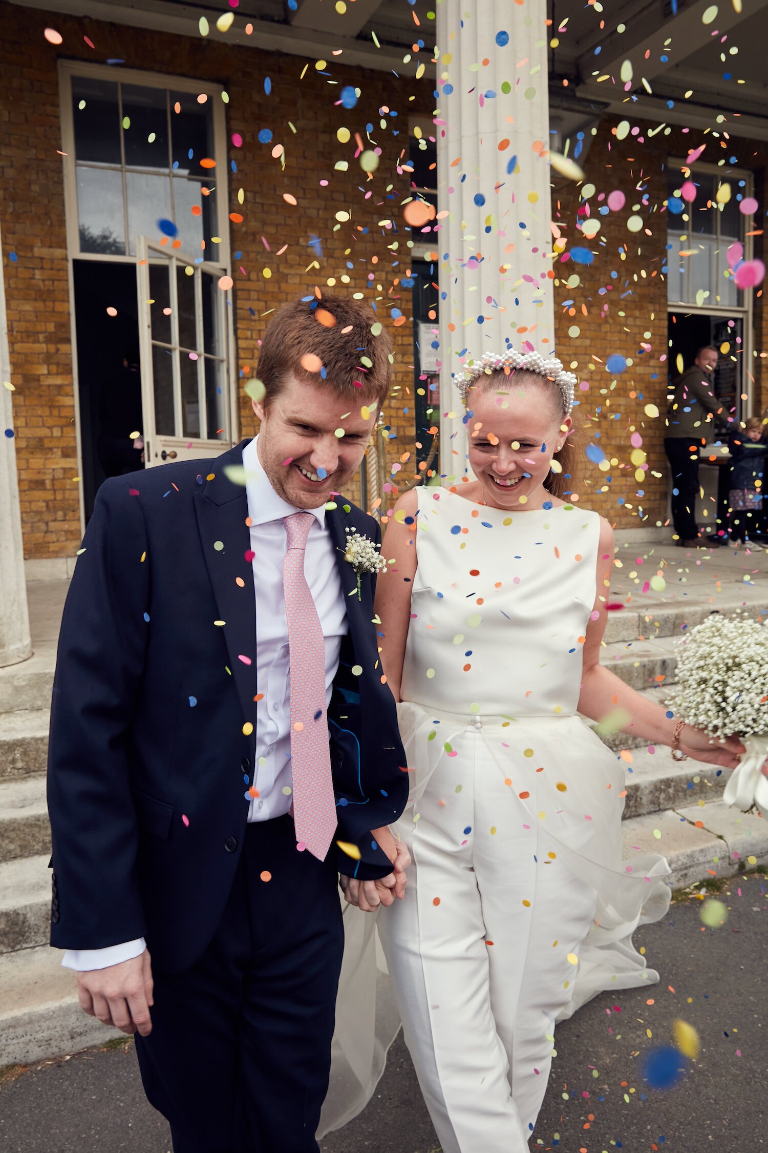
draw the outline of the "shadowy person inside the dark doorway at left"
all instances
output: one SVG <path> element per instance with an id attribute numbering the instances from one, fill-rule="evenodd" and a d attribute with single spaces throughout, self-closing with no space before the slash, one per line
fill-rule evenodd
<path id="1" fill-rule="evenodd" d="M 99 395 L 99 464 L 106 476 L 122 476 L 142 467 L 142 372 L 138 345 L 126 348 L 123 366 L 101 385 Z M 131 439 L 131 432 L 138 437 Z"/>

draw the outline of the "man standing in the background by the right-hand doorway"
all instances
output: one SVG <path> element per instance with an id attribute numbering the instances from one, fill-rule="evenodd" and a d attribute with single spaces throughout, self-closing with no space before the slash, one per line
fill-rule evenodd
<path id="1" fill-rule="evenodd" d="M 714 371 L 718 353 L 700 348 L 691 368 L 677 377 L 668 393 L 664 452 L 672 474 L 672 522 L 676 544 L 710 548 L 716 536 L 699 532 L 695 498 L 699 492 L 699 449 L 709 440 L 720 401 L 715 397 Z"/>

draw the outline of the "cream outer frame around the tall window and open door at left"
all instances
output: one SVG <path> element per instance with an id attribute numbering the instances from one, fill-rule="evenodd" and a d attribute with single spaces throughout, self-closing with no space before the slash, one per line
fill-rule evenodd
<path id="1" fill-rule="evenodd" d="M 79 419 L 79 380 L 77 374 L 77 327 L 75 317 L 75 261 L 102 261 L 108 263 L 132 264 L 138 262 L 138 255 L 124 256 L 111 255 L 108 253 L 81 253 L 79 250 L 79 223 L 77 212 L 77 168 L 75 163 L 75 122 L 73 116 L 71 82 L 74 76 L 85 76 L 96 80 L 120 80 L 126 84 L 145 85 L 146 88 L 174 89 L 177 92 L 206 92 L 208 99 L 213 100 L 213 159 L 215 166 L 216 182 L 216 213 L 215 234 L 221 238 L 221 242 L 215 246 L 216 265 L 226 269 L 231 276 L 231 250 L 229 241 L 229 165 L 227 159 L 227 115 L 221 93 L 225 91 L 222 84 L 216 84 L 207 80 L 196 80 L 189 76 L 178 76 L 174 73 L 143 71 L 140 69 L 113 67 L 111 65 L 97 65 L 88 61 L 60 60 L 59 61 L 59 108 L 61 118 L 61 152 L 64 189 L 64 220 L 67 231 L 67 272 L 69 282 L 69 332 L 71 341 L 73 359 L 73 392 L 75 404 L 75 439 L 77 447 L 77 472 L 83 472 L 83 438 Z M 170 174 L 169 174 L 170 175 Z M 205 179 L 205 178 L 201 178 Z M 208 178 L 210 179 L 210 178 Z M 130 238 L 126 238 L 127 247 Z M 207 249 L 206 249 L 207 254 Z M 188 254 L 201 255 L 201 254 Z M 208 256 L 213 254 L 207 254 Z M 229 421 L 230 437 L 233 443 L 237 442 L 239 415 L 237 406 L 237 371 L 235 360 L 235 329 L 234 307 L 231 295 L 228 293 L 229 307 L 227 308 L 227 340 L 230 349 L 230 379 L 229 379 Z M 140 324 L 140 319 L 139 319 Z M 83 485 L 78 485 L 79 495 L 79 518 L 81 534 L 85 532 L 85 498 Z"/>

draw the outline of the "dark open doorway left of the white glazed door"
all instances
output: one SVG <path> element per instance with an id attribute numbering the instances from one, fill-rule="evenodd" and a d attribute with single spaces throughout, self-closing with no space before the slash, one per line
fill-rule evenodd
<path id="1" fill-rule="evenodd" d="M 82 484 L 85 520 L 106 473 L 99 461 L 99 435 L 109 410 L 111 382 L 120 378 L 123 359 L 138 347 L 136 267 L 108 261 L 74 261 L 75 331 L 82 444 Z M 116 310 L 115 316 L 107 312 Z M 140 377 L 137 376 L 138 382 Z M 140 412 L 140 402 L 139 402 Z M 142 425 L 131 431 L 142 431 Z M 136 468 L 142 468 L 136 451 Z"/>

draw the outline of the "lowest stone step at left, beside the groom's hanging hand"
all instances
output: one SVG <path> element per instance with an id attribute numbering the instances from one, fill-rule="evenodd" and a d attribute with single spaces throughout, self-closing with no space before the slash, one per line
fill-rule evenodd
<path id="1" fill-rule="evenodd" d="M 62 954 L 43 945 L 0 956 L 0 1067 L 102 1045 L 117 1030 L 88 1017 Z"/>

